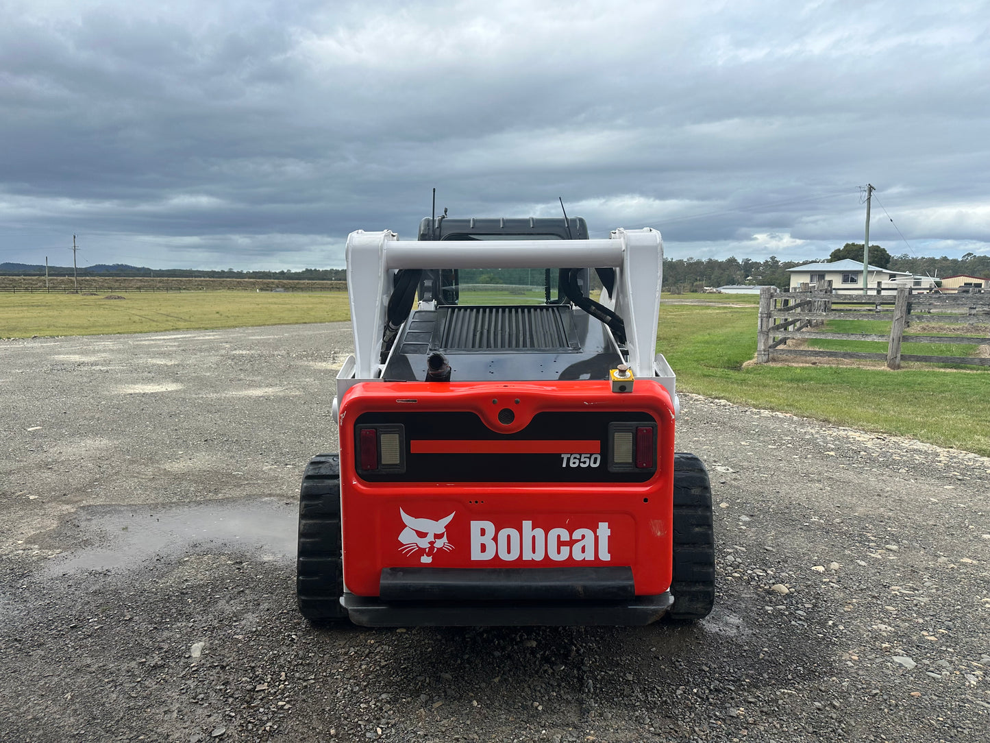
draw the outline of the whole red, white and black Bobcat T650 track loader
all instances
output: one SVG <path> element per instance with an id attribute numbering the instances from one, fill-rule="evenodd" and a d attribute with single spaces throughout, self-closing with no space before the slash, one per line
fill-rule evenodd
<path id="1" fill-rule="evenodd" d="M 711 611 L 708 474 L 674 453 L 674 373 L 655 355 L 662 256 L 651 229 L 590 240 L 573 218 L 347 237 L 354 354 L 337 376 L 340 453 L 302 483 L 304 616 L 635 625 Z"/>

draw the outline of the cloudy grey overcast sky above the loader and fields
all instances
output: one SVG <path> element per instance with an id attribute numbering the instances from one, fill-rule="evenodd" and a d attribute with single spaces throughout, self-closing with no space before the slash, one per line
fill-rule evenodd
<path id="1" fill-rule="evenodd" d="M 344 265 L 451 216 L 990 252 L 990 2 L 0 0 L 0 263 Z M 881 208 L 886 208 L 888 214 Z M 900 228 L 907 243 L 894 227 Z M 909 245 L 910 244 L 910 247 Z"/>

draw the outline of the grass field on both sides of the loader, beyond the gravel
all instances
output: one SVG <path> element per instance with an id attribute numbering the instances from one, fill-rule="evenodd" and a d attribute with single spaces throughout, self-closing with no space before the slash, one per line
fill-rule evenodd
<path id="1" fill-rule="evenodd" d="M 495 301 L 498 292 L 485 294 L 478 292 L 474 301 Z M 113 300 L 102 295 L 0 293 L 0 338 L 349 319 L 344 292 L 208 291 L 126 296 Z M 756 350 L 755 297 L 684 294 L 664 295 L 663 299 L 657 350 L 677 372 L 678 389 L 990 456 L 990 428 L 985 423 L 990 419 L 990 371 L 986 369 L 949 370 L 932 365 L 906 365 L 901 371 L 851 366 L 743 366 L 752 360 Z M 682 301 L 691 303 L 676 303 Z M 884 329 L 879 325 L 873 328 L 863 323 L 834 322 L 834 329 L 842 332 L 886 332 L 883 323 L 880 325 Z M 907 347 L 905 351 L 909 353 Z M 930 346 L 925 348 L 932 353 Z M 944 346 L 940 353 L 963 355 L 972 348 Z"/>

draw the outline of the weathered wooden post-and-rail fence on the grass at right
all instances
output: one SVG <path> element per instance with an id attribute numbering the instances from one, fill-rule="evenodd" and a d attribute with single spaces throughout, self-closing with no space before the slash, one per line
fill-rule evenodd
<path id="1" fill-rule="evenodd" d="M 815 330 L 827 320 L 885 320 L 890 333 L 832 333 Z M 911 323 L 964 323 L 983 336 L 905 335 Z M 766 364 L 780 357 L 826 357 L 886 361 L 890 369 L 901 362 L 970 364 L 990 367 L 990 358 L 969 356 L 922 356 L 902 354 L 902 343 L 990 344 L 990 294 L 912 294 L 900 288 L 897 294 L 834 294 L 825 291 L 778 292 L 767 287 L 759 295 L 756 334 L 756 363 Z M 826 351 L 783 348 L 791 339 L 881 341 L 887 353 Z"/>

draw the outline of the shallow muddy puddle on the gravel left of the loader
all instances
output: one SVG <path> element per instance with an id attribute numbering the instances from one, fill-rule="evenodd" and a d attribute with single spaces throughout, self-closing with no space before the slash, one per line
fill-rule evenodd
<path id="1" fill-rule="evenodd" d="M 260 560 L 295 557 L 298 507 L 278 498 L 151 506 L 92 506 L 76 518 L 98 543 L 51 559 L 50 577 L 131 570 L 159 556 L 235 547 Z"/>

